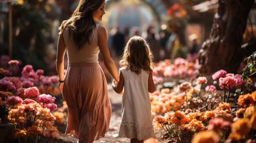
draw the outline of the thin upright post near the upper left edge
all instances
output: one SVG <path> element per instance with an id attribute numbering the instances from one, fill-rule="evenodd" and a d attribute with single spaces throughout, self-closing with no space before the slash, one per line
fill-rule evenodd
<path id="1" fill-rule="evenodd" d="M 9 57 L 12 59 L 12 10 L 11 2 L 8 2 L 9 6 Z"/>

